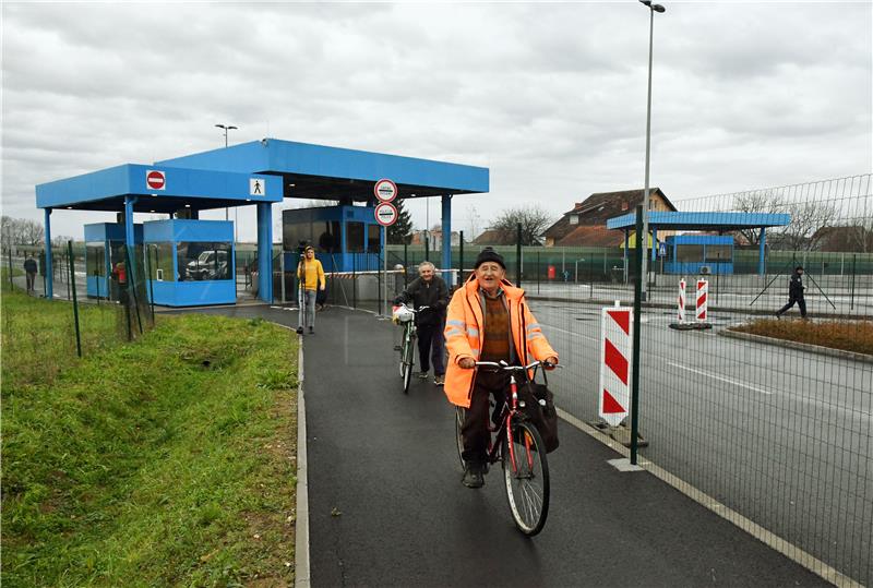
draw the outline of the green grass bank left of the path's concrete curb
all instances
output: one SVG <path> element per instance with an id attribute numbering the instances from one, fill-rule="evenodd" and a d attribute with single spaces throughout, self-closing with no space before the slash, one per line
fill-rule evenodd
<path id="1" fill-rule="evenodd" d="M 3 585 L 292 583 L 296 339 L 184 315 L 82 360 L 8 352 L 63 312 L 3 297 Z"/>

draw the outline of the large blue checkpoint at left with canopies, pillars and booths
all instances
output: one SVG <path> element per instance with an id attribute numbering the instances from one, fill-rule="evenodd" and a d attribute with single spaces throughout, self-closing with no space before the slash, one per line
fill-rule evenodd
<path id="1" fill-rule="evenodd" d="M 36 202 L 45 211 L 47 241 L 51 239 L 53 211 L 120 213 L 119 224 L 111 228 L 108 224 L 86 231 L 86 241 L 94 243 L 97 271 L 93 296 L 108 284 L 106 274 L 113 263 L 111 242 L 118 242 L 123 229 L 123 242 L 130 251 L 143 245 L 132 263 L 145 264 L 154 301 L 179 307 L 236 301 L 232 224 L 201 220 L 199 213 L 256 206 L 258 296 L 272 302 L 272 205 L 286 197 L 339 202 L 338 206 L 285 212 L 286 266 L 296 263 L 297 248 L 300 241 L 307 241 L 316 248 L 327 271 L 375 269 L 386 231 L 375 223 L 373 188 L 384 178 L 396 183 L 400 199 L 441 197 L 442 266 L 451 267 L 452 197 L 487 192 L 487 168 L 263 139 L 154 165 L 124 164 L 43 183 L 36 187 Z M 134 213 L 166 214 L 168 218 L 144 223 L 140 238 Z M 100 249 L 103 261 L 97 260 Z M 51 275 L 49 256 L 49 298 Z"/>

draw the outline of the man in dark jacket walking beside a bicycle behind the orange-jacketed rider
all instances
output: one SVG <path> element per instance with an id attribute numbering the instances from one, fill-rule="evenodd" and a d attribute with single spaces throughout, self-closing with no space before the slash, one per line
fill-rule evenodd
<path id="1" fill-rule="evenodd" d="M 421 262 L 418 276 L 394 299 L 395 304 L 412 301 L 416 309 L 428 307 L 416 313 L 418 331 L 418 357 L 421 371 L 418 376 L 427 380 L 431 358 L 433 360 L 433 383 L 442 386 L 445 381 L 445 308 L 449 305 L 449 287 L 430 262 Z"/>

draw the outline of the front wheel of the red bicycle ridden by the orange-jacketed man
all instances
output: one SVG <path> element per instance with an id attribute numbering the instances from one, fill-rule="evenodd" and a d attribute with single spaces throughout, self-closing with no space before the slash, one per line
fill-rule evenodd
<path id="1" fill-rule="evenodd" d="M 503 440 L 503 478 L 515 526 L 537 535 L 549 515 L 549 464 L 546 446 L 529 422 L 516 421 L 512 439 Z"/>

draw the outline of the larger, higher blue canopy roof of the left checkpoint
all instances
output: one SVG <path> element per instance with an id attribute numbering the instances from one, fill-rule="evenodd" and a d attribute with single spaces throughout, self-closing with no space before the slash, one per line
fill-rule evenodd
<path id="1" fill-rule="evenodd" d="M 283 177 L 285 197 L 366 201 L 387 178 L 400 197 L 488 192 L 488 168 L 277 139 L 263 139 L 160 165 Z"/>

